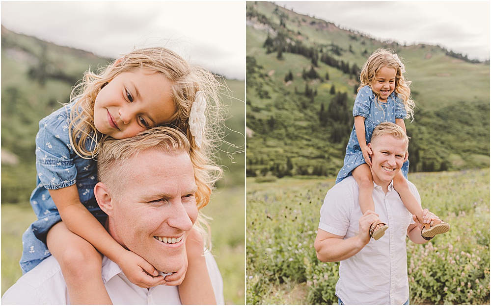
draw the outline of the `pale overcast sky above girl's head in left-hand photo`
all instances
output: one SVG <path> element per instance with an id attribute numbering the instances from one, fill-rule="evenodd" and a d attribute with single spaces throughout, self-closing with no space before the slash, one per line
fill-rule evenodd
<path id="1" fill-rule="evenodd" d="M 242 1 L 2 1 L 1 24 L 112 58 L 134 46 L 163 45 L 244 80 L 245 8 Z"/>

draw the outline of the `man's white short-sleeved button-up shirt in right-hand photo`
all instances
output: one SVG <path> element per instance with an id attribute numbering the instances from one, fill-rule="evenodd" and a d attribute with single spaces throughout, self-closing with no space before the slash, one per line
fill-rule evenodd
<path id="1" fill-rule="evenodd" d="M 421 202 L 416 187 L 411 192 Z M 359 234 L 362 216 L 358 202 L 359 188 L 353 176 L 331 188 L 321 208 L 319 228 L 344 239 Z M 374 184 L 375 212 L 389 228 L 379 240 L 370 242 L 355 256 L 342 260 L 336 295 L 345 305 L 403 305 L 409 297 L 406 235 L 414 223 L 399 193 Z"/>

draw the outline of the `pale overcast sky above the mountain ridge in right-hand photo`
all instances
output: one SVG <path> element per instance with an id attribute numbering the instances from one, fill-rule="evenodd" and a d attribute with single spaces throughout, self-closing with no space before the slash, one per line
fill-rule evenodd
<path id="1" fill-rule="evenodd" d="M 490 58 L 489 1 L 274 1 L 382 40 L 440 45 Z"/>

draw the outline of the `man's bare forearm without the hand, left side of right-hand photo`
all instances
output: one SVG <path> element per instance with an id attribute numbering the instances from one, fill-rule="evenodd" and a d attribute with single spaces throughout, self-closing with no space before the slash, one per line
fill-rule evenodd
<path id="1" fill-rule="evenodd" d="M 354 236 L 348 239 L 316 239 L 314 246 L 319 260 L 322 262 L 333 262 L 353 257 L 365 247 L 365 244 L 358 236 Z"/>

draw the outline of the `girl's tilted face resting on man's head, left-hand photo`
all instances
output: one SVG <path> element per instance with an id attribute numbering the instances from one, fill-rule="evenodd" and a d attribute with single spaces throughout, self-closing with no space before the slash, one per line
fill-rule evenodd
<path id="1" fill-rule="evenodd" d="M 171 83 L 146 69 L 121 72 L 97 94 L 96 129 L 114 139 L 130 138 L 167 122 L 176 111 Z"/>

